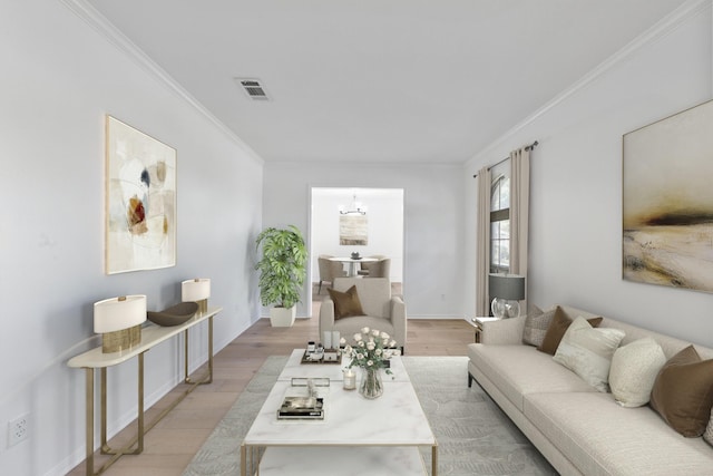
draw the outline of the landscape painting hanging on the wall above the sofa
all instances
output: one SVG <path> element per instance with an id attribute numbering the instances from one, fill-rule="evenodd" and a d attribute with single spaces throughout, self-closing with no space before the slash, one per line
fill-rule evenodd
<path id="1" fill-rule="evenodd" d="M 713 101 L 623 147 L 624 279 L 713 292 Z"/>

